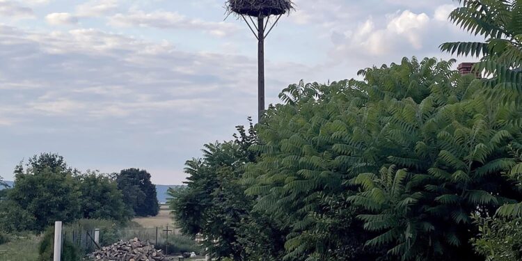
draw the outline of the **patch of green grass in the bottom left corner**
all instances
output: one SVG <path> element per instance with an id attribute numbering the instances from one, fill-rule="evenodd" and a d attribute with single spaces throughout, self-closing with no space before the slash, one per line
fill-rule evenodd
<path id="1" fill-rule="evenodd" d="M 36 261 L 40 237 L 29 235 L 19 237 L 7 244 L 0 245 L 0 260 L 2 261 Z"/>

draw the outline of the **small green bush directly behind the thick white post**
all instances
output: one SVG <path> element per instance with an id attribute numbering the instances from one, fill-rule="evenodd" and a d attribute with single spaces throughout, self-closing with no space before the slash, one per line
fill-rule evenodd
<path id="1" fill-rule="evenodd" d="M 38 256 L 38 261 L 53 260 L 54 228 L 49 227 L 47 230 L 45 230 L 42 241 L 40 242 L 38 253 L 40 254 Z M 74 246 L 74 244 L 68 241 L 64 241 L 62 246 L 61 260 L 78 261 L 81 260 L 81 255 L 79 254 L 79 250 L 76 246 Z"/>

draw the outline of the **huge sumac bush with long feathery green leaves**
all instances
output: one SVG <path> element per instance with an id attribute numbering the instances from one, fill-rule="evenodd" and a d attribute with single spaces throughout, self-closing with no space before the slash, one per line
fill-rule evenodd
<path id="1" fill-rule="evenodd" d="M 489 88 L 473 75 L 452 71 L 453 63 L 404 58 L 362 70 L 364 81 L 283 90 L 287 104 L 272 106 L 258 126 L 251 150 L 260 158 L 248 164 L 244 184 L 257 197 L 254 209 L 290 230 L 287 260 L 335 260 L 341 251 L 330 242 L 338 235 L 354 238 L 353 249 L 365 241 L 381 258 L 473 256 L 470 214 L 521 199 L 503 173 L 515 166 L 508 147 L 522 136 L 506 122 L 512 106 L 485 95 Z M 325 209 L 323 198 L 342 197 L 347 203 Z M 362 224 L 319 229 L 329 220 L 317 216 L 348 207 Z M 314 238 L 321 240 L 309 244 Z M 359 254 L 342 259 L 372 260 Z"/>

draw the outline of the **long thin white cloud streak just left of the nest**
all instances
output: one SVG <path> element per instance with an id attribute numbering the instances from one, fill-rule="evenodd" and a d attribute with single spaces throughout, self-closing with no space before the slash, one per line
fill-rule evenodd
<path id="1" fill-rule="evenodd" d="M 179 13 L 155 11 L 145 13 L 142 10 L 129 10 L 129 13 L 118 13 L 109 17 L 112 26 L 142 26 L 158 29 L 191 29 L 201 30 L 216 36 L 225 36 L 239 29 L 236 24 L 228 22 L 207 22 L 191 19 Z"/>

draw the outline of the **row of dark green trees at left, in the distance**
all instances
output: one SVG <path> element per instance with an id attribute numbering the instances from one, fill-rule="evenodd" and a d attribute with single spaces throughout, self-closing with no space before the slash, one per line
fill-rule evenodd
<path id="1" fill-rule="evenodd" d="M 15 185 L 0 198 L 0 231 L 41 232 L 54 221 L 111 219 L 159 212 L 155 186 L 147 171 L 136 168 L 111 175 L 81 173 L 60 155 L 35 155 L 15 168 Z"/>

